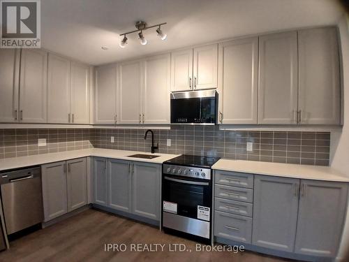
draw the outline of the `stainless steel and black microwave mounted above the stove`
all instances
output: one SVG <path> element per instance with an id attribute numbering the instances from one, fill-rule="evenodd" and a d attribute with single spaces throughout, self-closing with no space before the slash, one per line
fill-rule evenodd
<path id="1" fill-rule="evenodd" d="M 171 124 L 217 124 L 218 93 L 198 90 L 171 94 Z"/>

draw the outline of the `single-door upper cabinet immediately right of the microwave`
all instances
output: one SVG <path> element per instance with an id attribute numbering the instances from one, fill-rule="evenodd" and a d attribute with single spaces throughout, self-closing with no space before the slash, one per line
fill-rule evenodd
<path id="1" fill-rule="evenodd" d="M 221 124 L 257 124 L 258 37 L 219 44 Z"/>

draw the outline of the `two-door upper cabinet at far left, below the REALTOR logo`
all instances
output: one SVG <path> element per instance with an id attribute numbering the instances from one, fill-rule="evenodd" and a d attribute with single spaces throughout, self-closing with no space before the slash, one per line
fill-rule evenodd
<path id="1" fill-rule="evenodd" d="M 0 122 L 47 119 L 47 52 L 0 51 Z"/>

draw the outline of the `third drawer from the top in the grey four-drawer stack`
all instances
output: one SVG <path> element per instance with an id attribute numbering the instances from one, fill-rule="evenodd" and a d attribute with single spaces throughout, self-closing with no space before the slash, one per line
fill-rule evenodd
<path id="1" fill-rule="evenodd" d="M 224 211 L 232 214 L 241 214 L 252 217 L 253 205 L 251 203 L 233 201 L 224 198 L 214 198 L 214 210 Z"/>

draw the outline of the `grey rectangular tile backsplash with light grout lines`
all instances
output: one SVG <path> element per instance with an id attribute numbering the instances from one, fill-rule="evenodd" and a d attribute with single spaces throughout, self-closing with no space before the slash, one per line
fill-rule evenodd
<path id="1" fill-rule="evenodd" d="M 329 165 L 329 132 L 223 131 L 218 126 L 153 131 L 161 153 Z M 0 159 L 89 147 L 150 152 L 151 134 L 144 140 L 144 133 L 144 129 L 0 129 Z M 46 138 L 47 145 L 38 147 L 38 138 Z M 253 151 L 246 151 L 247 142 L 253 143 Z"/>

